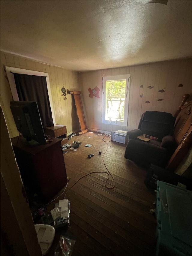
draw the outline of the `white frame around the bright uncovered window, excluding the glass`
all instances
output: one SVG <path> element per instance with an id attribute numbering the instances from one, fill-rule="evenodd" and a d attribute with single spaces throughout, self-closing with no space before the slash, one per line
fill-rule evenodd
<path id="1" fill-rule="evenodd" d="M 128 125 L 128 109 L 129 109 L 129 92 L 130 92 L 130 78 L 131 75 L 116 75 L 116 76 L 106 76 L 102 77 L 103 79 L 103 94 L 102 94 L 102 123 L 103 124 L 111 124 L 111 125 L 121 125 L 127 126 Z M 112 121 L 106 120 L 105 113 L 106 113 L 106 81 L 108 80 L 126 80 L 126 87 L 125 87 L 125 107 L 124 107 L 124 121 Z"/>

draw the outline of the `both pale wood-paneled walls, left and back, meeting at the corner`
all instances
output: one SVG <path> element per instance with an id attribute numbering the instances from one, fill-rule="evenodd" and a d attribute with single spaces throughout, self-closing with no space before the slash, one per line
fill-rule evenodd
<path id="1" fill-rule="evenodd" d="M 18 135 L 9 101 L 12 95 L 6 79 L 4 66 L 46 72 L 52 92 L 55 121 L 67 125 L 67 134 L 79 130 L 79 120 L 72 95 L 65 101 L 61 88 L 82 92 L 82 104 L 87 127 L 95 131 L 130 130 L 138 127 L 140 116 L 146 110 L 174 114 L 184 93 L 192 99 L 192 58 L 157 62 L 145 65 L 113 68 L 79 73 L 42 64 L 29 59 L 1 52 L 1 107 L 7 122 L 10 137 Z M 102 77 L 131 74 L 128 126 L 102 124 Z M 79 79 L 80 77 L 80 79 Z M 80 81 L 79 81 L 80 80 Z M 88 88 L 98 86 L 100 98 L 90 98 Z"/>

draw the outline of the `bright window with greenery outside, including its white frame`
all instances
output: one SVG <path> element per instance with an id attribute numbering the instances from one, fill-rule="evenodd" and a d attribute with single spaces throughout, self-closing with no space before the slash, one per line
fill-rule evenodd
<path id="1" fill-rule="evenodd" d="M 103 77 L 103 124 L 127 126 L 130 75 Z"/>

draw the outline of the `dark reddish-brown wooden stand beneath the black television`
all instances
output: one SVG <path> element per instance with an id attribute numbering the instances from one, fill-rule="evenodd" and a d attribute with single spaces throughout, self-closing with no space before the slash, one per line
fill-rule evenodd
<path id="1" fill-rule="evenodd" d="M 52 138 L 52 142 L 45 145 L 26 146 L 21 135 L 11 142 L 24 187 L 45 201 L 52 199 L 67 184 L 61 140 Z"/>

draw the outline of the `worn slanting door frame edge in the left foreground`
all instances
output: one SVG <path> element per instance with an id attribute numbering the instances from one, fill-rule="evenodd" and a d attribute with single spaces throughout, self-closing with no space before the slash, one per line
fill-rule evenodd
<path id="1" fill-rule="evenodd" d="M 4 114 L 1 109 L 1 185 L 4 187 L 1 198 L 6 196 L 10 211 L 1 200 L 1 230 L 6 234 L 14 255 L 40 256 L 41 248 L 38 243 L 32 214 L 26 198 L 25 189 L 20 177 L 19 168 L 11 145 Z M 5 190 L 6 189 L 6 190 Z M 3 218 L 3 219 L 2 219 Z M 14 232 L 13 232 L 14 231 Z M 17 233 L 21 241 L 17 243 L 13 233 Z"/>

